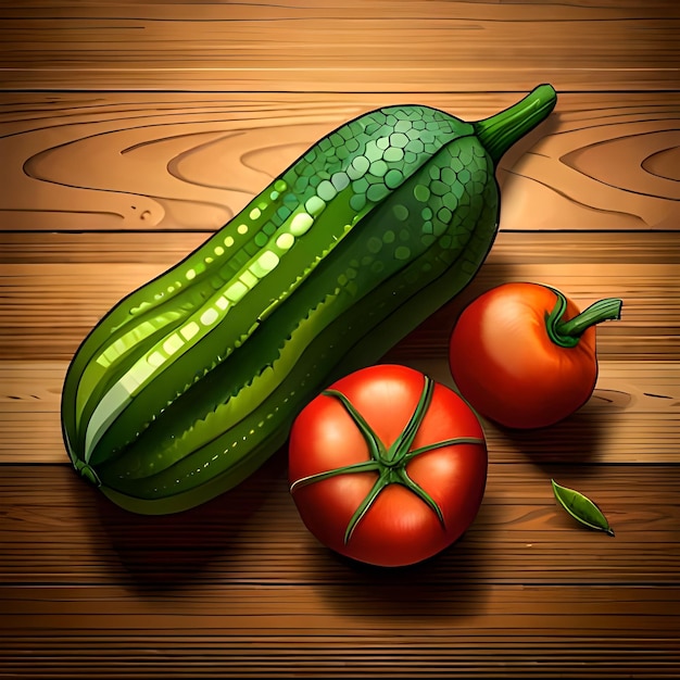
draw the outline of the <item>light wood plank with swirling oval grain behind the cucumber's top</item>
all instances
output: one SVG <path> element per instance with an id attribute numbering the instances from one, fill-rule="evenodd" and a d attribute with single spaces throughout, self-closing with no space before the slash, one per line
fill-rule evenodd
<path id="1" fill-rule="evenodd" d="M 215 230 L 368 110 L 416 101 L 475 121 L 528 89 L 0 92 L 0 230 Z M 678 167 L 680 92 L 558 92 L 549 119 L 501 160 L 501 229 L 677 230 Z"/>

